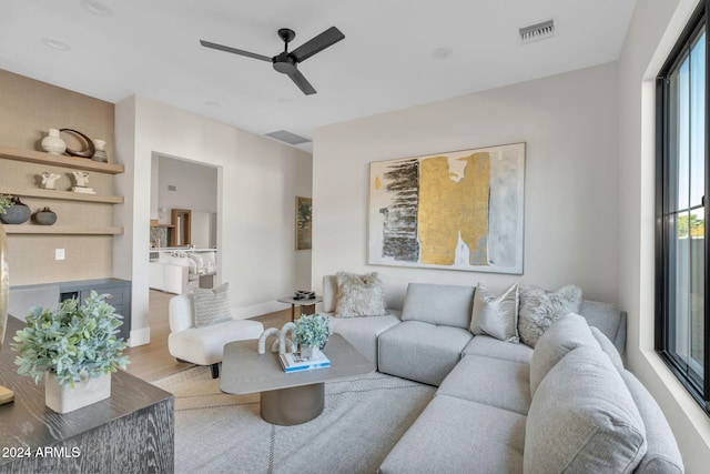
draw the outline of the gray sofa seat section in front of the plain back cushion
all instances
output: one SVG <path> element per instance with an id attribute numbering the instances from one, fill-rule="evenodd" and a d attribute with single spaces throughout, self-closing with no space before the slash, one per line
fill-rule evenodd
<path id="1" fill-rule="evenodd" d="M 470 341 L 468 329 L 404 321 L 377 339 L 379 372 L 438 385 Z"/>

